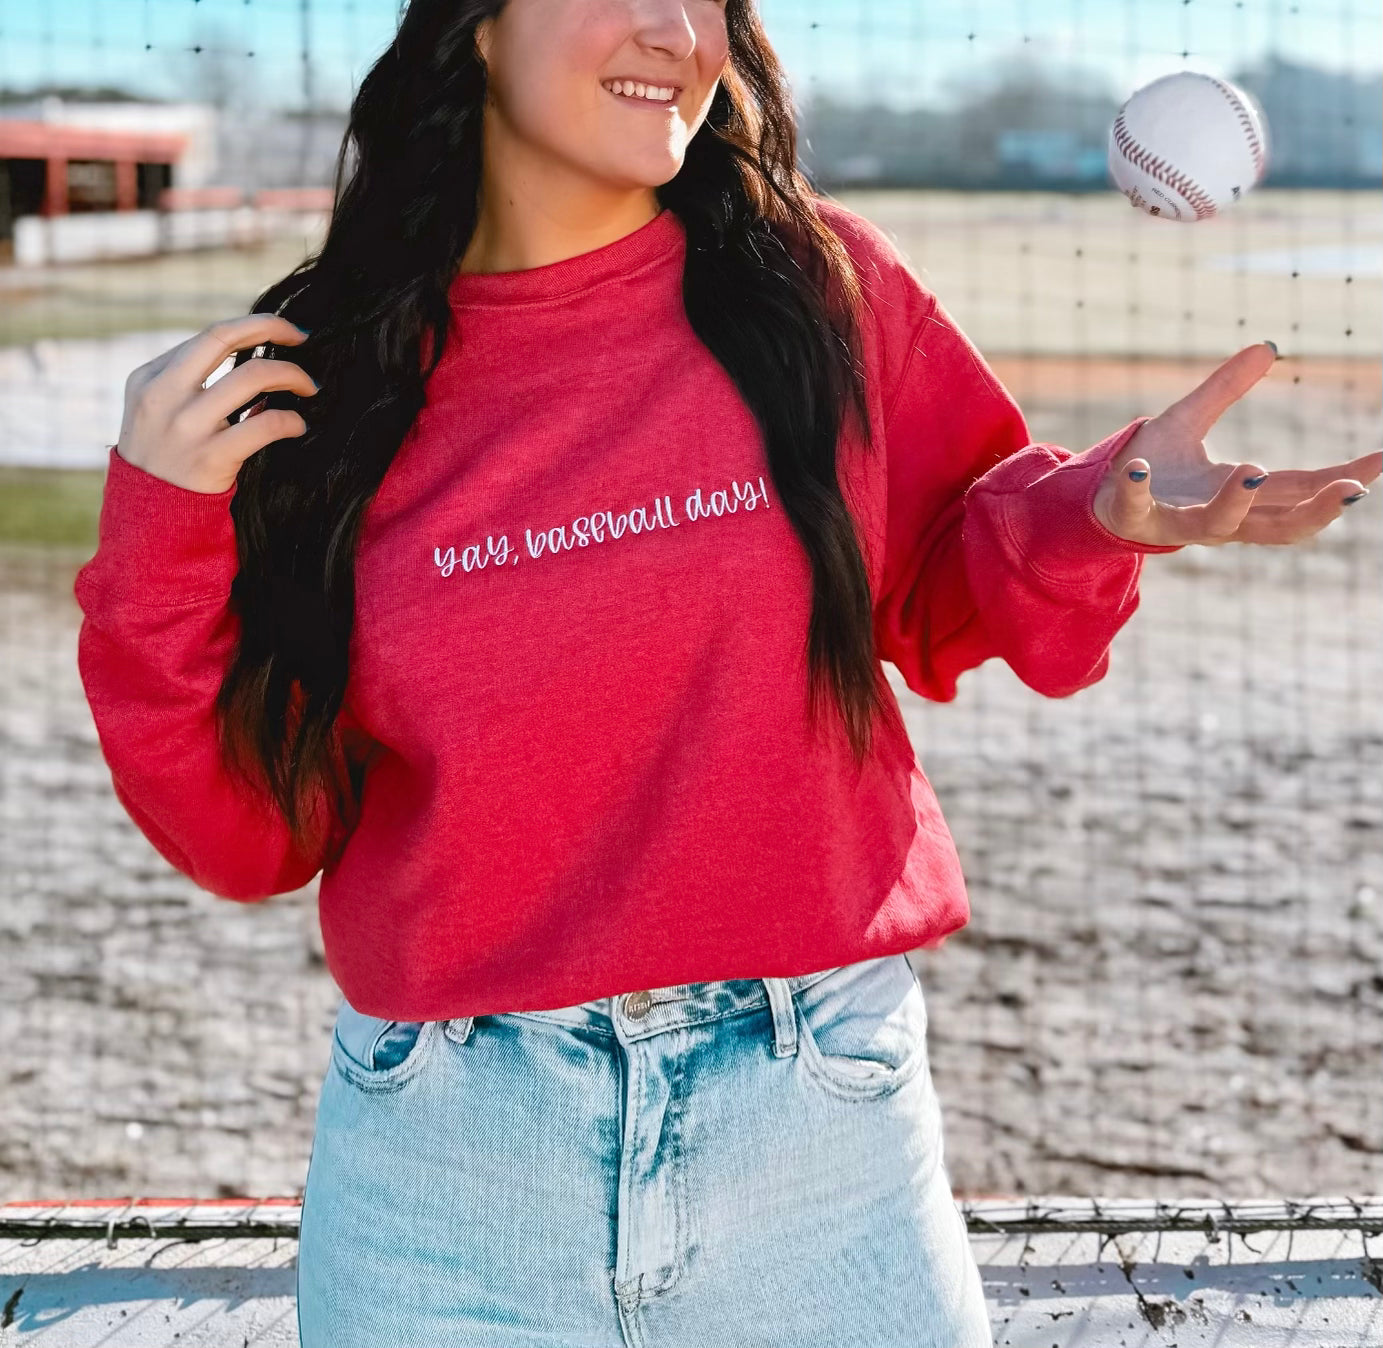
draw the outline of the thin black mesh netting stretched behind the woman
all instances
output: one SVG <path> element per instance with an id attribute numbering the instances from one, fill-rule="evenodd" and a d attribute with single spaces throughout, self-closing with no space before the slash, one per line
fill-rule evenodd
<path id="1" fill-rule="evenodd" d="M 765 0 L 804 167 L 891 231 L 1084 448 L 1259 339 L 1221 460 L 1377 445 L 1376 6 Z M 337 991 L 315 882 L 239 906 L 115 799 L 76 673 L 123 382 L 315 243 L 376 0 L 0 0 L 0 1199 L 297 1192 Z M 1265 182 L 1131 210 L 1137 86 L 1231 79 Z M 1375 492 L 1376 498 L 1377 492 Z M 958 1196 L 1383 1192 L 1376 499 L 1288 549 L 1148 559 L 1108 676 L 895 676 L 972 921 L 920 951 Z"/>

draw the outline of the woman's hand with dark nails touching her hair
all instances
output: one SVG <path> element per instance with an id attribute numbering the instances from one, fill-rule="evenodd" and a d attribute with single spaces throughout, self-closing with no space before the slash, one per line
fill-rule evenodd
<path id="1" fill-rule="evenodd" d="M 274 389 L 310 397 L 313 377 L 292 361 L 242 361 L 209 389 L 227 357 L 267 343 L 289 346 L 307 333 L 277 314 L 246 314 L 212 324 L 124 382 L 120 458 L 188 491 L 228 491 L 241 465 L 257 449 L 301 436 L 307 422 L 288 408 L 256 409 L 231 424 L 230 415 Z"/>

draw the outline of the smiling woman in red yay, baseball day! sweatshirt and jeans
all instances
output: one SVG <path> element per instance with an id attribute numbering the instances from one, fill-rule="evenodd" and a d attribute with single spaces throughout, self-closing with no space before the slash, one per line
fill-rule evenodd
<path id="1" fill-rule="evenodd" d="M 1310 538 L 1379 455 L 1212 463 L 1263 343 L 1029 444 L 797 173 L 750 0 L 412 0 L 347 141 L 322 250 L 131 375 L 76 582 L 154 845 L 324 872 L 303 1342 L 989 1344 L 880 659 L 1069 695 L 1145 553 Z"/>

